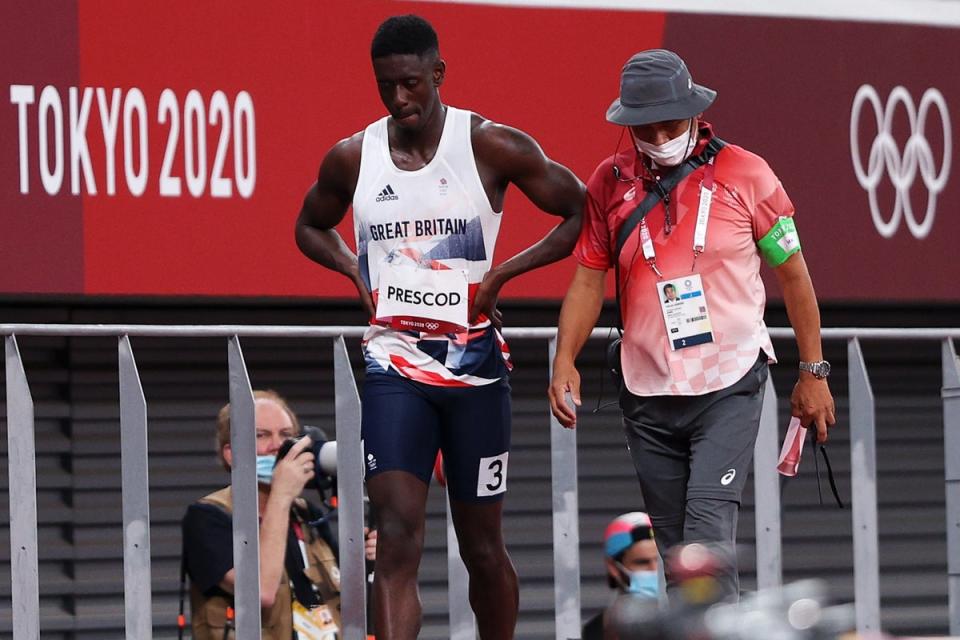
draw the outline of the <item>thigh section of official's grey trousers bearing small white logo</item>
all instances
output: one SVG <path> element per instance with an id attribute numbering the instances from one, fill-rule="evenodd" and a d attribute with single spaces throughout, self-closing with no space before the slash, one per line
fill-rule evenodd
<path id="1" fill-rule="evenodd" d="M 687 498 L 740 502 L 760 426 L 767 381 L 765 359 L 738 382 L 716 392 L 700 414 L 690 440 Z"/>

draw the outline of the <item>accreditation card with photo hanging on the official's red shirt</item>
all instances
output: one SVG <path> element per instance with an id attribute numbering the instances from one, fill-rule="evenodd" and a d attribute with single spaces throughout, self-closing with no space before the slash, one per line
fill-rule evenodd
<path id="1" fill-rule="evenodd" d="M 713 327 L 700 274 L 661 280 L 656 287 L 671 351 L 713 342 Z"/>

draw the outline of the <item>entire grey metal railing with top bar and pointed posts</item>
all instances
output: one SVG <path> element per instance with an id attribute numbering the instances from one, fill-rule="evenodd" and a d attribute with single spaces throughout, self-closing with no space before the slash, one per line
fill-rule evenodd
<path id="1" fill-rule="evenodd" d="M 254 402 L 240 338 L 331 339 L 334 349 L 336 438 L 339 485 L 339 538 L 342 572 L 343 637 L 366 638 L 366 590 L 363 558 L 363 460 L 360 447 L 360 399 L 345 337 L 359 337 L 362 327 L 168 326 L 168 325 L 28 325 L 0 324 L 5 336 L 7 439 L 10 475 L 10 555 L 13 637 L 40 637 L 37 561 L 36 449 L 33 400 L 17 335 L 113 336 L 119 340 L 121 473 L 124 532 L 125 623 L 128 640 L 152 634 L 150 590 L 150 514 L 147 475 L 147 403 L 129 338 L 221 337 L 227 339 L 234 465 L 234 559 L 237 571 L 238 640 L 259 638 L 259 530 L 256 492 Z M 517 328 L 507 338 L 548 341 L 552 363 L 556 330 Z M 770 330 L 789 338 L 789 329 Z M 860 339 L 939 340 L 943 359 L 943 420 L 947 506 L 947 556 L 950 632 L 960 635 L 960 359 L 953 339 L 960 329 L 824 329 L 824 340 L 847 340 L 850 377 L 851 482 L 853 492 L 854 582 L 857 630 L 880 627 L 879 557 L 874 399 L 860 350 Z M 595 329 L 591 338 L 609 335 Z M 545 411 L 549 413 L 548 409 Z M 576 432 L 550 416 L 553 485 L 554 593 L 558 638 L 580 637 L 579 507 L 577 502 Z M 780 500 L 775 471 L 778 449 L 777 401 L 768 382 L 754 457 L 756 489 L 757 584 L 781 582 Z M 448 508 L 450 629 L 456 640 L 474 638 L 475 622 L 467 604 L 467 580 L 452 532 Z"/>

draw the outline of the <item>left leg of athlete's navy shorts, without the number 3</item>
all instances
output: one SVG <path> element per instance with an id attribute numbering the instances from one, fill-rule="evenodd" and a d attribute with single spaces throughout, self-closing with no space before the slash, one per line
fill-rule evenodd
<path id="1" fill-rule="evenodd" d="M 427 390 L 399 376 L 368 374 L 362 409 L 366 480 L 384 471 L 405 471 L 430 484 L 440 419 Z"/>

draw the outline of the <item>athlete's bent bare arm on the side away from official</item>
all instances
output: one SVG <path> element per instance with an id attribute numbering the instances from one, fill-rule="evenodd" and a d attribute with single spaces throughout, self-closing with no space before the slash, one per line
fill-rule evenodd
<path id="1" fill-rule="evenodd" d="M 371 317 L 373 299 L 360 277 L 357 256 L 334 229 L 353 200 L 360 172 L 360 134 L 338 142 L 323 159 L 317 181 L 307 191 L 297 217 L 297 246 L 305 256 L 350 278 Z"/>

